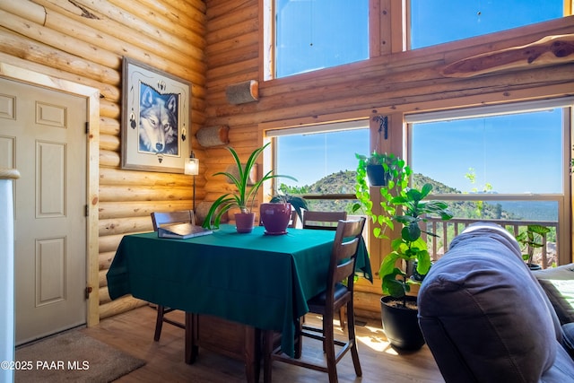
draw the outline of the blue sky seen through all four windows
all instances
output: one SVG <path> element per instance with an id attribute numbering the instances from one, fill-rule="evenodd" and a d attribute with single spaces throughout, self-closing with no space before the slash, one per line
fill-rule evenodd
<path id="1" fill-rule="evenodd" d="M 278 4 L 283 17 L 297 21 L 293 28 L 285 27 L 278 40 L 283 49 L 278 66 L 283 74 L 305 71 L 305 61 L 310 62 L 309 68 L 317 68 L 366 57 L 357 48 L 360 44 L 344 50 L 350 56 L 339 48 L 328 53 L 335 41 L 365 39 L 362 20 L 367 13 L 361 9 L 365 0 L 278 0 Z M 413 23 L 418 25 L 412 32 L 412 45 L 419 48 L 558 18 L 562 5 L 562 0 L 412 0 Z M 335 17 L 337 6 L 351 6 L 352 12 L 343 13 L 361 27 L 346 28 L 348 19 Z M 319 12 L 321 7 L 328 11 Z M 311 24 L 313 30 L 309 30 Z M 481 189 L 488 182 L 500 193 L 559 192 L 561 169 L 555 164 L 561 161 L 560 128 L 558 111 L 420 126 L 413 143 L 413 170 L 461 191 Z M 282 137 L 279 172 L 298 178 L 299 186 L 310 185 L 338 170 L 354 170 L 355 152 L 369 152 L 367 132 L 346 132 L 328 139 L 326 135 Z M 469 168 L 476 173 L 474 185 L 465 178 Z"/>

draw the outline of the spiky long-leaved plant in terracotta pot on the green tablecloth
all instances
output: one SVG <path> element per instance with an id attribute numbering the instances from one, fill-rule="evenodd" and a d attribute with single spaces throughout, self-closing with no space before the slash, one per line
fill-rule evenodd
<path id="1" fill-rule="evenodd" d="M 253 225 L 255 222 L 253 206 L 255 205 L 259 187 L 261 187 L 265 181 L 273 178 L 284 177 L 297 180 L 291 176 L 273 174 L 273 170 L 269 170 L 261 179 L 257 180 L 253 185 L 249 185 L 249 174 L 251 173 L 257 158 L 268 145 L 269 144 L 265 144 L 264 146 L 251 152 L 251 155 L 249 156 L 245 165 L 241 164 L 239 155 L 233 148 L 227 148 L 233 156 L 233 160 L 235 161 L 237 169 L 235 171 L 219 171 L 213 174 L 213 176 L 224 176 L 228 178 L 230 182 L 235 185 L 237 191 L 234 193 L 224 194 L 213 202 L 209 211 L 205 215 L 203 223 L 204 228 L 219 228 L 222 215 L 229 211 L 230 208 L 238 207 L 239 213 L 235 214 L 237 231 L 241 233 L 248 233 L 253 231 Z"/>

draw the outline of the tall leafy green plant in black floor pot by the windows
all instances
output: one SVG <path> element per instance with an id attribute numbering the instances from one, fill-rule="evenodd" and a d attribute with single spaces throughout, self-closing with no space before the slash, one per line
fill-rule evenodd
<path id="1" fill-rule="evenodd" d="M 374 213 L 370 198 L 370 188 L 365 173 L 357 171 L 356 195 L 361 206 L 370 216 L 373 234 L 378 239 L 388 239 L 388 228 L 394 230 L 395 223 L 402 225 L 401 237 L 391 241 L 391 253 L 380 265 L 378 275 L 384 295 L 381 298 L 381 320 L 385 334 L 391 344 L 405 350 L 418 350 L 424 344 L 424 338 L 418 324 L 416 297 L 407 295 L 413 283 L 420 283 L 407 276 L 396 266 L 399 259 L 416 264 L 417 274 L 427 274 L 431 267 L 431 256 L 426 241 L 422 239 L 420 223 L 425 222 L 427 214 L 438 214 L 441 219 L 452 218 L 448 205 L 440 201 L 423 201 L 431 193 L 431 184 L 425 184 L 421 190 L 409 188 L 408 181 L 412 170 L 396 156 L 389 156 L 389 178 L 386 187 L 380 187 L 381 213 Z M 361 166 L 361 164 L 360 164 Z M 400 212 L 402 210 L 402 213 Z"/>

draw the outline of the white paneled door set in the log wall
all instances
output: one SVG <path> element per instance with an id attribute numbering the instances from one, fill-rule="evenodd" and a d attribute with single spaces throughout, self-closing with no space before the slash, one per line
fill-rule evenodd
<path id="1" fill-rule="evenodd" d="M 0 167 L 14 182 L 16 344 L 86 322 L 87 101 L 0 79 Z"/>

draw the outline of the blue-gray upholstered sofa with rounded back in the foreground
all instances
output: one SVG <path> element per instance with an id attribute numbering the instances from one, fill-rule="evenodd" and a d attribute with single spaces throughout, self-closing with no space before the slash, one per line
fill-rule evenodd
<path id="1" fill-rule="evenodd" d="M 500 226 L 479 222 L 453 239 L 418 303 L 422 334 L 447 382 L 574 381 L 552 304 Z"/>

